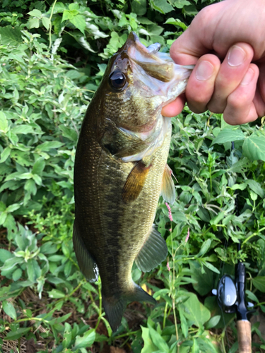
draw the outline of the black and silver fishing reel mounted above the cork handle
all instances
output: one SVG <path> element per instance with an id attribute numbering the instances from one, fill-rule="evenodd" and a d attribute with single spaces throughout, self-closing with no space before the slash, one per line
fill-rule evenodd
<path id="1" fill-rule="evenodd" d="M 250 309 L 254 304 L 247 303 L 245 299 L 245 278 L 245 265 L 239 262 L 235 268 L 235 282 L 230 275 L 223 275 L 217 289 L 212 290 L 212 293 L 217 296 L 220 309 L 224 313 L 237 313 L 239 321 L 248 321 L 247 315 L 254 312 Z"/>

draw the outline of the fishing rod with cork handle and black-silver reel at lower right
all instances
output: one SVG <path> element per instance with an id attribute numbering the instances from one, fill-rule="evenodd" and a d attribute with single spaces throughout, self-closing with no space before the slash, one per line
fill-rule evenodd
<path id="1" fill-rule="evenodd" d="M 234 142 L 232 142 L 232 150 L 235 149 Z M 237 216 L 238 211 L 238 195 L 235 199 L 235 209 Z M 241 250 L 241 241 L 237 244 L 237 252 Z M 252 352 L 252 336 L 251 323 L 248 315 L 254 310 L 247 309 L 247 306 L 253 304 L 246 301 L 245 295 L 246 269 L 242 261 L 238 261 L 235 265 L 235 281 L 230 275 L 223 275 L 218 282 L 217 289 L 213 289 L 213 294 L 217 296 L 218 305 L 224 313 L 237 314 L 237 341 L 239 353 Z"/>

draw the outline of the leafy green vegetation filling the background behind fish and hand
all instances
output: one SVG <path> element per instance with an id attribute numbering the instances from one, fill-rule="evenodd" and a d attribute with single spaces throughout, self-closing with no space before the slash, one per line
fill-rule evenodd
<path id="1" fill-rule="evenodd" d="M 161 198 L 155 217 L 167 261 L 151 273 L 133 269 L 158 304 L 130 304 L 117 333 L 100 282 L 83 279 L 73 253 L 76 141 L 107 59 L 131 30 L 167 51 L 210 2 L 2 2 L 1 352 L 235 352 L 235 316 L 220 311 L 211 289 L 238 260 L 255 315 L 265 312 L 262 119 L 228 126 L 187 107 L 172 119 L 177 198 L 171 209 Z M 259 322 L 252 330 L 261 351 Z"/>

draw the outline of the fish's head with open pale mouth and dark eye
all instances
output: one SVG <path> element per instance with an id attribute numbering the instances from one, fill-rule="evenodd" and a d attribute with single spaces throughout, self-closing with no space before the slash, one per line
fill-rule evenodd
<path id="1" fill-rule="evenodd" d="M 103 115 L 128 131 L 148 133 L 162 107 L 184 92 L 191 67 L 179 66 L 160 44 L 146 47 L 131 32 L 112 56 L 102 78 Z"/>

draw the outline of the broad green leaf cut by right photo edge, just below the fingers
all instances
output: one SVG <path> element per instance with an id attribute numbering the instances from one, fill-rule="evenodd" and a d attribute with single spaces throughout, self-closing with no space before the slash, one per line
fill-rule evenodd
<path id="1" fill-rule="evenodd" d="M 263 160 L 265 161 L 265 137 L 257 136 L 252 133 L 247 137 L 242 146 L 243 155 L 249 160 Z"/>

